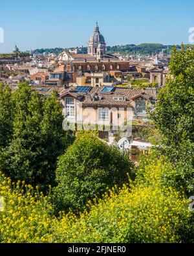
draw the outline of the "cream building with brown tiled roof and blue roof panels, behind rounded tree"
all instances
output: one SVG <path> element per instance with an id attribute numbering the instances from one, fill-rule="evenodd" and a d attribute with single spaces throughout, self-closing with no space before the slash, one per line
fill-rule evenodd
<path id="1" fill-rule="evenodd" d="M 61 91 L 65 120 L 71 124 L 92 125 L 98 130 L 107 126 L 113 132 L 131 125 L 133 119 L 147 119 L 146 104 L 154 97 L 142 89 L 119 87 L 76 87 Z M 80 126 L 80 127 L 81 127 Z M 91 127 L 89 130 L 92 130 Z"/>

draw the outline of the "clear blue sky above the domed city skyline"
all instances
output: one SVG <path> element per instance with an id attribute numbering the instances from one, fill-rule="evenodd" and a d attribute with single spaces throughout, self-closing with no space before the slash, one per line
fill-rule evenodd
<path id="1" fill-rule="evenodd" d="M 1 1 L 0 52 L 87 45 L 96 19 L 107 45 L 188 43 L 193 0 Z"/>

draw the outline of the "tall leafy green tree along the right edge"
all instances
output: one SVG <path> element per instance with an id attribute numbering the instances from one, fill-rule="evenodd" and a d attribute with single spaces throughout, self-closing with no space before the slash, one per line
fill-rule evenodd
<path id="1" fill-rule="evenodd" d="M 175 51 L 169 65 L 171 78 L 160 90 L 152 118 L 163 135 L 162 154 L 176 167 L 169 181 L 194 192 L 194 48 Z M 172 178 L 172 180 L 171 180 Z"/>

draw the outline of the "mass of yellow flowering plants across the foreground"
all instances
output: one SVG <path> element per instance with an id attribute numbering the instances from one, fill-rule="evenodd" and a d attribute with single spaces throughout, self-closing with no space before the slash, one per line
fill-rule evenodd
<path id="1" fill-rule="evenodd" d="M 167 168 L 150 163 L 142 179 L 94 198 L 80 216 L 60 217 L 38 188 L 1 174 L 0 242 L 194 242 L 188 199 L 160 182 Z"/>

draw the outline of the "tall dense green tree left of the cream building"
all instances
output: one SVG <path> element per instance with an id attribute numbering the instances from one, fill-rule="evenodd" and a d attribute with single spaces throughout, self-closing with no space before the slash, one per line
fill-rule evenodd
<path id="1" fill-rule="evenodd" d="M 1 170 L 13 180 L 54 184 L 56 159 L 67 146 L 57 95 L 43 97 L 25 83 L 12 94 L 12 100 L 13 139 L 1 152 Z"/>

